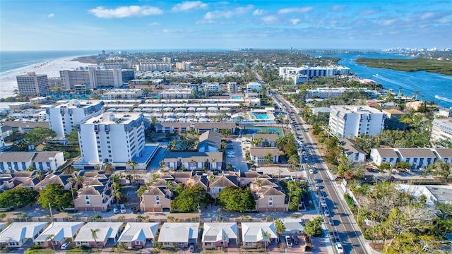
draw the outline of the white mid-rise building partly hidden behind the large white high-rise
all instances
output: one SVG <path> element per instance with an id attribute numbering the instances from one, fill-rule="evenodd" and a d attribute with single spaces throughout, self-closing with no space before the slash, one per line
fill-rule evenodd
<path id="1" fill-rule="evenodd" d="M 57 133 L 57 138 L 64 138 L 83 119 L 103 111 L 103 101 L 79 101 L 77 99 L 54 104 L 46 109 L 47 116 L 49 116 L 49 127 Z"/>

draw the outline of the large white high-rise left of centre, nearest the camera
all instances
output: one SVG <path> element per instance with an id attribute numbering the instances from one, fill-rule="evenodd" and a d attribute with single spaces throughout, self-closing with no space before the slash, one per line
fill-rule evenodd
<path id="1" fill-rule="evenodd" d="M 125 164 L 143 156 L 144 122 L 141 113 L 105 112 L 77 125 L 81 164 Z"/>

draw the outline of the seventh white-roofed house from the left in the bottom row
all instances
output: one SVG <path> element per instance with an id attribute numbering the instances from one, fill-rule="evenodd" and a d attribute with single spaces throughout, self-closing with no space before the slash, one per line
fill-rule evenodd
<path id="1" fill-rule="evenodd" d="M 270 238 L 263 237 L 264 233 L 270 234 Z M 273 222 L 242 222 L 242 246 L 243 248 L 256 248 L 258 245 L 277 243 L 278 234 L 276 233 Z"/>

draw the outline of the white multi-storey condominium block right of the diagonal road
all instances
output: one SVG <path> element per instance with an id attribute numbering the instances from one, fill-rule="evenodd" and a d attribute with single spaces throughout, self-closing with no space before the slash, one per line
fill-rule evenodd
<path id="1" fill-rule="evenodd" d="M 328 128 L 339 138 L 376 135 L 383 131 L 385 119 L 383 112 L 368 106 L 331 106 Z"/>

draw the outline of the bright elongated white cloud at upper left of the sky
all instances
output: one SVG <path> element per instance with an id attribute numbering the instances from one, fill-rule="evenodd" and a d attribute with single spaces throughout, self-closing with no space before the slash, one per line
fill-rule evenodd
<path id="1" fill-rule="evenodd" d="M 97 6 L 89 10 L 97 18 L 129 18 L 143 17 L 151 15 L 160 15 L 163 13 L 160 8 L 153 6 L 121 6 L 114 9 L 107 9 L 103 6 Z"/>

